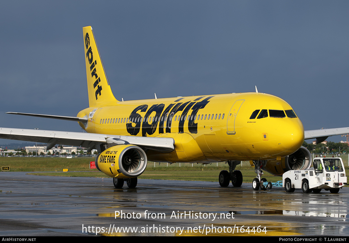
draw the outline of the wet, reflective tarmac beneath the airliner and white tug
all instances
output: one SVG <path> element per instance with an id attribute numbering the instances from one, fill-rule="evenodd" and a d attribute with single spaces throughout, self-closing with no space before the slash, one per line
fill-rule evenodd
<path id="1" fill-rule="evenodd" d="M 1 172 L 0 190 L 1 236 L 349 236 L 349 188 L 304 194 L 139 179 L 115 189 L 111 178 Z"/>

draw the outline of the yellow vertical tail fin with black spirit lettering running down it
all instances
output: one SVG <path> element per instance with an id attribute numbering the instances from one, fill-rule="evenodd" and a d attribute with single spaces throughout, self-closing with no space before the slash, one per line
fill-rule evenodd
<path id="1" fill-rule="evenodd" d="M 90 107 L 118 102 L 110 89 L 107 76 L 104 72 L 103 62 L 99 56 L 92 27 L 83 27 L 82 30 L 85 42 L 84 50 L 86 55 L 86 75 Z"/>

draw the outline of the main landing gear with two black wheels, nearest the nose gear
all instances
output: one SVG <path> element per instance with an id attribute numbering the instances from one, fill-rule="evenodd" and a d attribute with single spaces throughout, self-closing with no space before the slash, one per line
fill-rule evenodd
<path id="1" fill-rule="evenodd" d="M 229 186 L 231 184 L 235 187 L 240 187 L 242 184 L 242 173 L 239 170 L 235 170 L 236 165 L 240 164 L 241 161 L 227 161 L 229 164 L 229 171 L 222 170 L 219 174 L 219 184 L 222 187 Z"/>

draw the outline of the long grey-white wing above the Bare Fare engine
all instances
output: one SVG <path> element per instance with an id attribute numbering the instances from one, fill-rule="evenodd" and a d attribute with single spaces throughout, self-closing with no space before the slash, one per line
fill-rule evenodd
<path id="1" fill-rule="evenodd" d="M 51 149 L 53 146 L 59 143 L 89 148 L 89 151 L 91 151 L 93 148 L 99 150 L 99 145 L 102 143 L 107 143 L 108 140 L 108 143 L 130 143 L 132 145 L 163 153 L 169 153 L 174 150 L 173 138 L 133 137 L 5 127 L 0 127 L 0 138 L 47 143 L 46 149 Z"/>

